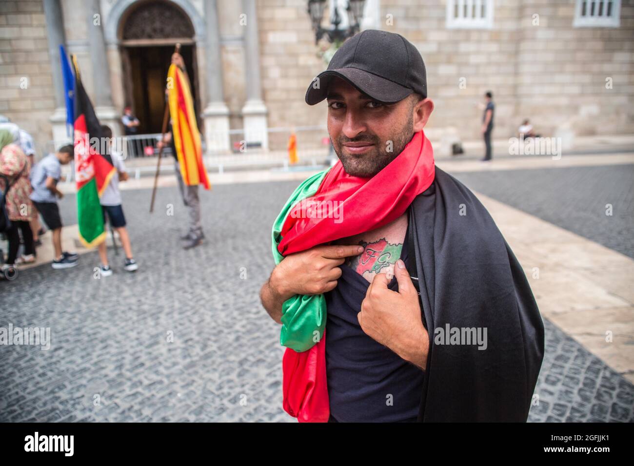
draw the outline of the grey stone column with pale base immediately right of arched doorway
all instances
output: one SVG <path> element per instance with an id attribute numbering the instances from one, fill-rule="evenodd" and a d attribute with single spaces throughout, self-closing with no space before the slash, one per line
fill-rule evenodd
<path id="1" fill-rule="evenodd" d="M 205 121 L 207 153 L 229 152 L 229 108 L 224 103 L 223 62 L 220 56 L 220 34 L 218 27 L 217 1 L 205 1 L 207 22 L 207 53 L 205 68 L 207 75 L 207 105 L 202 114 Z"/>

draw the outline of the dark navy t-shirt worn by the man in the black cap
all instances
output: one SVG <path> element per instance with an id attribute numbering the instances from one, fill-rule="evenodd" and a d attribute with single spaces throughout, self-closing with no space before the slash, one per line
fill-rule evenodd
<path id="1" fill-rule="evenodd" d="M 407 254 L 405 241 L 401 259 Z M 337 422 L 415 422 L 425 372 L 363 332 L 357 314 L 370 283 L 340 268 L 337 287 L 326 294 L 330 415 Z M 388 287 L 398 291 L 396 278 Z"/>

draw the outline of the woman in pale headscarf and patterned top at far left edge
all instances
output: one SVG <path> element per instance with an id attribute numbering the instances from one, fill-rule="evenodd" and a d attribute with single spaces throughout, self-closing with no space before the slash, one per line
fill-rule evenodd
<path id="1" fill-rule="evenodd" d="M 29 221 L 34 217 L 33 204 L 29 198 L 31 184 L 29 181 L 30 163 L 27 156 L 18 145 L 20 132 L 11 129 L 0 129 L 0 174 L 9 179 L 10 188 L 6 191 L 6 210 L 11 221 L 11 228 L 5 232 L 9 240 L 9 256 L 6 266 L 15 264 L 20 247 L 20 235 L 22 231 L 24 240 L 24 255 L 19 263 L 33 262 L 35 249 L 33 233 Z"/>

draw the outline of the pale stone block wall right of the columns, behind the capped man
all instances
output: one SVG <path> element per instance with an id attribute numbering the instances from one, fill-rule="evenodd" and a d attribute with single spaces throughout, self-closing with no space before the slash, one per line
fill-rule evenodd
<path id="1" fill-rule="evenodd" d="M 573 27 L 574 4 L 496 0 L 493 28 L 448 29 L 446 1 L 381 0 L 379 29 L 406 37 L 425 60 L 436 104 L 432 136 L 453 129 L 461 139 L 480 138 L 488 90 L 496 103 L 496 138 L 514 136 L 526 117 L 543 134 L 631 133 L 634 1 L 623 0 L 618 28 Z M 307 85 L 326 67 L 316 56 L 306 1 L 258 6 L 269 126 L 325 122 L 325 104 L 304 103 Z M 605 88 L 607 77 L 612 89 Z"/>

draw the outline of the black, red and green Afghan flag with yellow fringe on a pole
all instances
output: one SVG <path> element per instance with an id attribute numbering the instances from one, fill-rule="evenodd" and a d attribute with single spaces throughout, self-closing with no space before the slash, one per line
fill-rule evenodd
<path id="1" fill-rule="evenodd" d="M 94 114 L 93 104 L 79 76 L 75 57 L 75 180 L 77 181 L 77 223 L 79 239 L 93 247 L 106 238 L 99 198 L 116 169 L 107 153 L 100 153 L 104 134 Z M 106 152 L 106 151 L 103 151 Z"/>

